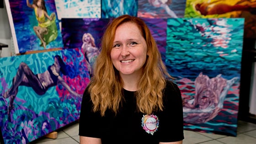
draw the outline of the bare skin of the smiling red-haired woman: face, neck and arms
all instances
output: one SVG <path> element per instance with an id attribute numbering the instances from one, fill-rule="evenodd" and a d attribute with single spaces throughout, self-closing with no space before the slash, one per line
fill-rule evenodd
<path id="1" fill-rule="evenodd" d="M 126 22 L 117 27 L 110 56 L 123 79 L 124 89 L 138 91 L 147 49 L 146 41 L 135 23 Z M 101 144 L 101 139 L 80 136 L 80 144 Z M 159 144 L 182 144 L 182 141 Z"/>

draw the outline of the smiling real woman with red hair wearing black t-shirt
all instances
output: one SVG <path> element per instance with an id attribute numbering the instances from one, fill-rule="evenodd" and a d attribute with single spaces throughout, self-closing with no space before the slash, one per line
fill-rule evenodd
<path id="1" fill-rule="evenodd" d="M 145 22 L 114 19 L 82 99 L 80 144 L 182 144 L 181 92 L 171 78 Z"/>

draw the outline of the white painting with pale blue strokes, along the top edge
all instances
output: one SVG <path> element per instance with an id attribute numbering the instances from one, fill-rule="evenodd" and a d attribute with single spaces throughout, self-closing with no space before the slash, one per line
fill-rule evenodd
<path id="1" fill-rule="evenodd" d="M 55 0 L 58 18 L 101 18 L 101 0 Z"/>

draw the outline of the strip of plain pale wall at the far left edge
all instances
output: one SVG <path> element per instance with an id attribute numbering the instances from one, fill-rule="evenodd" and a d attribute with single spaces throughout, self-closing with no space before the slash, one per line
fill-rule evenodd
<path id="1" fill-rule="evenodd" d="M 8 44 L 8 48 L 2 48 L 0 57 L 11 56 L 11 28 L 5 4 L 4 8 L 0 8 L 0 43 Z"/>

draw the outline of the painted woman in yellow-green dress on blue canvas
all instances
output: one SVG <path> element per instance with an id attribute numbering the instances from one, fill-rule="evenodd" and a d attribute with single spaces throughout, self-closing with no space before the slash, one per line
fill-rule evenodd
<path id="1" fill-rule="evenodd" d="M 43 46 L 45 49 L 46 45 L 55 40 L 58 36 L 55 22 L 56 15 L 52 13 L 51 16 L 48 16 L 44 0 L 33 0 L 32 5 L 29 3 L 29 0 L 27 0 L 27 6 L 35 11 L 38 26 L 34 26 L 33 29 L 41 41 L 40 46 Z M 48 20 L 46 20 L 46 18 L 48 18 Z"/>

